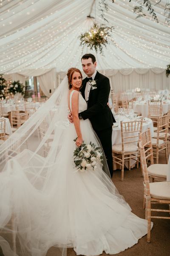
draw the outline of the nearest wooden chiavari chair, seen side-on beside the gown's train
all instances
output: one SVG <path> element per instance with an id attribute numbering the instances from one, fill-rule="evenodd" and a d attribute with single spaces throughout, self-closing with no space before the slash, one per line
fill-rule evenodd
<path id="1" fill-rule="evenodd" d="M 163 204 L 169 207 L 170 204 L 170 182 L 149 182 L 147 163 L 145 159 L 144 146 L 139 141 L 141 165 L 144 171 L 144 197 L 145 197 L 145 218 L 147 220 L 147 242 L 150 242 L 151 219 L 170 219 L 167 216 L 155 216 L 152 212 L 169 212 L 169 210 L 151 208 L 152 204 Z"/>

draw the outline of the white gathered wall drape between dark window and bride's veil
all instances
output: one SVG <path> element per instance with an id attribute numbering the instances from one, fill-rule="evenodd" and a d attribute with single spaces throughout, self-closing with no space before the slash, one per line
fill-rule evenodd
<path id="1" fill-rule="evenodd" d="M 53 68 L 51 71 L 38 76 L 37 81 L 40 83 L 40 88 L 45 96 L 50 97 L 54 90 L 57 88 L 57 75 L 56 69 Z M 51 93 L 50 93 L 51 90 Z"/>

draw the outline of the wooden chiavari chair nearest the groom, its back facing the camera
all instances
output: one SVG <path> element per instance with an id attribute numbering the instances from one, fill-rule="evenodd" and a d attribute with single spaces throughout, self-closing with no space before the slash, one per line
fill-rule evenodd
<path id="1" fill-rule="evenodd" d="M 131 122 L 120 122 L 122 144 L 115 144 L 112 147 L 113 165 L 118 164 L 122 167 L 121 180 L 124 177 L 124 165 L 128 161 L 130 170 L 130 159 L 137 159 L 137 167 L 139 164 L 139 133 L 142 132 L 142 120 Z M 132 134 L 132 135 L 130 135 Z"/>

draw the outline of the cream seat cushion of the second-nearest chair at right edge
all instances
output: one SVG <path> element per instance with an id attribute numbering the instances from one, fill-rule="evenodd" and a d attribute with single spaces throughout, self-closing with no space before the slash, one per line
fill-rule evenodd
<path id="1" fill-rule="evenodd" d="M 147 168 L 148 174 L 151 176 L 167 178 L 168 165 L 154 164 Z"/>

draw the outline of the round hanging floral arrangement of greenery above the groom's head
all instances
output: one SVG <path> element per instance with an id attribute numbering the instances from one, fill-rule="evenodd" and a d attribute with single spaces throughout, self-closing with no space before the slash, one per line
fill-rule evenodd
<path id="1" fill-rule="evenodd" d="M 98 25 L 94 23 L 91 29 L 79 36 L 80 45 L 87 45 L 92 50 L 93 48 L 102 53 L 103 46 L 108 44 L 108 39 L 111 38 L 113 26 L 108 27 L 104 24 Z"/>

